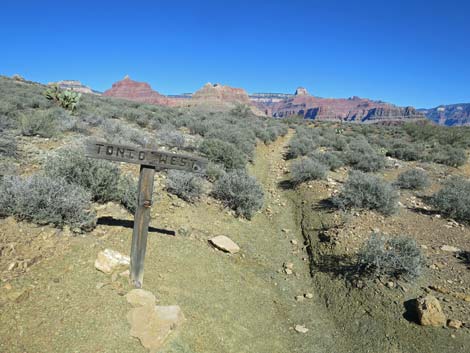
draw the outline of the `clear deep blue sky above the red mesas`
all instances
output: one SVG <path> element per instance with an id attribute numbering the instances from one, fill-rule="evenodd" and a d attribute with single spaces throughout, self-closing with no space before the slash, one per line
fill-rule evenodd
<path id="1" fill-rule="evenodd" d="M 469 16 L 468 0 L 2 0 L 0 74 L 433 107 L 470 102 Z"/>

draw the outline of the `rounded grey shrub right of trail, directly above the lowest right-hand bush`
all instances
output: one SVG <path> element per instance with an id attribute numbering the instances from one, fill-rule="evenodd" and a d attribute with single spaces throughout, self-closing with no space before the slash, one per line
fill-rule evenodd
<path id="1" fill-rule="evenodd" d="M 390 215 L 398 208 L 398 193 L 391 184 L 374 175 L 352 171 L 332 202 L 341 209 L 357 207 Z"/>

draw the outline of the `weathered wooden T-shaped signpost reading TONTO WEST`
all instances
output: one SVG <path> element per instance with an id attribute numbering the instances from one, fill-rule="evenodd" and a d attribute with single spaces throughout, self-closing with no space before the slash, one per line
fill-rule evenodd
<path id="1" fill-rule="evenodd" d="M 144 278 L 144 259 L 147 248 L 150 208 L 152 207 L 153 181 L 156 170 L 178 169 L 202 173 L 207 160 L 199 157 L 163 151 L 115 145 L 105 142 L 88 142 L 86 155 L 91 158 L 115 162 L 140 164 L 137 208 L 131 245 L 131 282 L 141 288 Z"/>

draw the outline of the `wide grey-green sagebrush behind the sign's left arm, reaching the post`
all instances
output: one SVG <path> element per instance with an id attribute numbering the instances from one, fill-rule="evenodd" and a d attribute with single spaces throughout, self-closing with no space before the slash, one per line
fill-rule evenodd
<path id="1" fill-rule="evenodd" d="M 44 166 L 51 178 L 63 178 L 89 190 L 93 201 L 117 201 L 129 211 L 135 211 L 136 182 L 121 176 L 117 164 L 85 156 L 81 148 L 63 148 L 50 156 Z M 124 178 L 124 179 L 123 179 Z"/>

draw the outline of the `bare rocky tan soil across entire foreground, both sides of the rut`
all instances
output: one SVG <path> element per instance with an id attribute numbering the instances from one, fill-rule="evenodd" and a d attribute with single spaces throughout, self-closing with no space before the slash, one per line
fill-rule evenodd
<path id="1" fill-rule="evenodd" d="M 167 194 L 158 173 L 144 288 L 157 305 L 178 305 L 186 318 L 163 351 L 466 352 L 470 303 L 462 295 L 469 294 L 470 271 L 449 249 L 470 248 L 468 227 L 428 212 L 418 195 L 407 193 L 390 218 L 325 208 L 322 200 L 341 186 L 345 171 L 286 189 L 283 154 L 291 136 L 257 147 L 250 173 L 266 202 L 252 221 L 210 198 L 188 204 Z M 31 143 L 20 141 L 20 149 L 30 151 Z M 386 177 L 398 172 L 389 169 Z M 433 169 L 435 180 L 447 172 L 457 171 Z M 113 203 L 96 209 L 98 227 L 83 235 L 0 220 L 0 351 L 147 351 L 130 335 L 128 279 L 95 269 L 104 249 L 129 254 L 132 215 Z M 348 259 L 375 228 L 417 238 L 429 259 L 422 278 L 390 284 L 345 276 Z M 217 236 L 239 250 L 227 242 L 225 251 L 217 248 L 209 241 Z M 438 298 L 447 319 L 465 325 L 416 324 L 410 300 L 425 294 Z"/>

